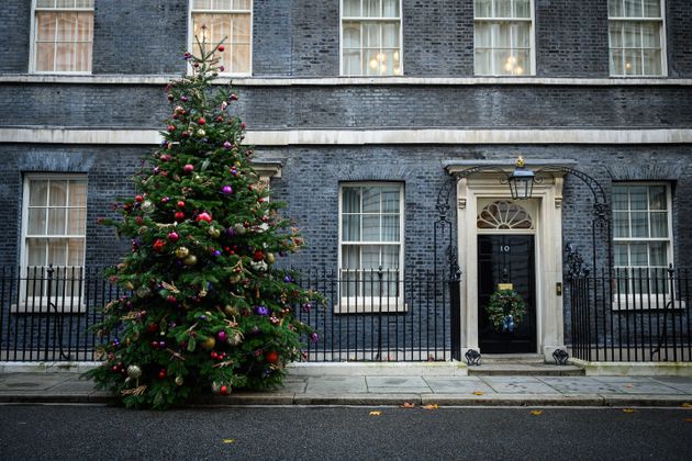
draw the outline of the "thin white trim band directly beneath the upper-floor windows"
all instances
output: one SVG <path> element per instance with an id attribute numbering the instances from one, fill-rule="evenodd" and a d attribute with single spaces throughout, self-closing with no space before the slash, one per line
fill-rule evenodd
<path id="1" fill-rule="evenodd" d="M 403 60 L 402 60 L 403 63 Z M 57 83 L 57 85 L 166 85 L 179 79 L 179 74 L 168 75 L 55 75 L 55 74 L 0 74 L 0 83 Z M 314 77 L 314 78 L 230 78 L 220 76 L 215 85 L 233 83 L 235 87 L 339 87 L 339 86 L 562 86 L 562 87 L 692 87 L 690 78 L 654 77 Z"/>

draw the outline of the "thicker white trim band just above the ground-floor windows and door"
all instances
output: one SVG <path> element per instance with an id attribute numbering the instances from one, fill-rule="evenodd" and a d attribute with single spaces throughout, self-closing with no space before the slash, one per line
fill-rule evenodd
<path id="1" fill-rule="evenodd" d="M 157 130 L 0 128 L 0 143 L 157 145 Z M 674 130 L 294 130 L 250 131 L 256 146 L 369 144 L 689 144 L 691 128 Z"/>

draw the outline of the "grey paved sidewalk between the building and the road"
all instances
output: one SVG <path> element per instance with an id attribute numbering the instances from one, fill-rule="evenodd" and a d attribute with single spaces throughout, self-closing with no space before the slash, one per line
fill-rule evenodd
<path id="1" fill-rule="evenodd" d="M 319 372 L 319 371 L 317 371 Z M 360 371 L 360 373 L 364 373 Z M 392 373 L 397 374 L 397 373 Z M 0 403 L 115 403 L 79 374 L 0 374 Z M 692 379 L 674 376 L 462 376 L 289 374 L 282 389 L 236 392 L 199 405 L 688 406 Z"/>

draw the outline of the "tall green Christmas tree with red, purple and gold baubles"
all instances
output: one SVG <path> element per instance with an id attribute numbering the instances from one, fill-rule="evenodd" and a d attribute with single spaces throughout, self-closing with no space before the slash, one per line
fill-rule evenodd
<path id="1" fill-rule="evenodd" d="M 250 165 L 237 94 L 212 87 L 223 44 L 197 43 L 199 56 L 185 54 L 191 74 L 166 87 L 171 114 L 137 194 L 118 205 L 122 218 L 102 220 L 132 251 L 108 271 L 127 294 L 104 306 L 97 328 L 111 339 L 87 376 L 130 407 L 275 386 L 304 335 L 316 340 L 293 306 L 320 296 L 275 265 L 303 239 Z"/>

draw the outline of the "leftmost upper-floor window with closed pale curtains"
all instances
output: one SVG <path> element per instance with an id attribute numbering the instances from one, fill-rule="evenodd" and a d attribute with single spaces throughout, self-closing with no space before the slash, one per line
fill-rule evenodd
<path id="1" fill-rule="evenodd" d="M 34 0 L 32 70 L 91 71 L 93 0 Z"/>

